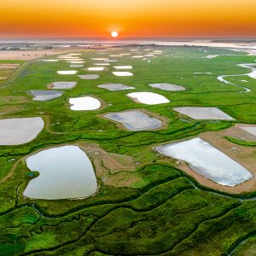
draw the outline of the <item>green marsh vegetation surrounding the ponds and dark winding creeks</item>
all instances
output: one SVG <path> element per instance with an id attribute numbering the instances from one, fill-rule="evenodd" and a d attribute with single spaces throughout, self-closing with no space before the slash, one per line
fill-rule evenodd
<path id="1" fill-rule="evenodd" d="M 181 119 L 172 108 L 181 106 L 218 107 L 241 123 L 256 123 L 256 80 L 246 78 L 242 84 L 252 91 L 217 80 L 221 74 L 248 73 L 236 64 L 253 63 L 255 57 L 242 53 L 202 58 L 214 54 L 234 54 L 225 49 L 160 48 L 164 55 L 151 62 L 119 58 L 118 65 L 132 65 L 134 76 L 118 78 L 110 71 L 96 80 L 81 80 L 73 75 L 58 75 L 70 70 L 65 61 L 30 61 L 19 75 L 1 89 L 0 108 L 14 108 L 2 118 L 42 116 L 44 131 L 31 143 L 0 148 L 0 254 L 1 255 L 250 255 L 256 234 L 256 201 L 249 195 L 224 195 L 202 187 L 191 177 L 170 165 L 152 149 L 155 145 L 203 131 L 217 131 L 231 122 Z M 117 51 L 118 52 L 118 51 Z M 125 52 L 121 50 L 120 52 Z M 173 54 L 173 55 L 170 55 Z M 85 67 L 92 67 L 90 57 L 83 55 Z M 53 57 L 50 57 L 53 58 Z M 114 63 L 116 64 L 116 63 Z M 114 66 L 114 65 L 113 65 Z M 208 73 L 212 74 L 195 74 Z M 87 73 L 83 70 L 79 74 Z M 183 78 L 183 79 L 182 79 Z M 241 84 L 241 78 L 230 78 Z M 53 81 L 78 81 L 72 90 L 50 102 L 33 102 L 27 90 L 46 90 Z M 148 84 L 171 83 L 187 90 L 170 92 L 150 88 Z M 171 103 L 147 106 L 132 102 L 128 91 L 97 88 L 104 83 L 122 83 L 137 91 L 153 91 Z M 91 112 L 69 109 L 68 97 L 91 95 L 106 102 L 106 108 Z M 98 114 L 132 108 L 148 110 L 169 119 L 167 129 L 131 132 L 101 119 Z M 229 138 L 230 139 L 230 138 Z M 127 187 L 106 185 L 98 179 L 99 191 L 84 200 L 43 201 L 24 198 L 22 191 L 33 177 L 24 157 L 41 149 L 63 143 L 99 143 L 108 153 L 130 155 L 139 162 L 136 172 L 121 172 L 137 177 Z M 241 142 L 236 142 L 241 143 Z M 251 146 L 251 145 L 248 145 Z M 109 173 L 111 177 L 119 172 Z M 37 176 L 37 175 L 35 175 Z M 241 241 L 245 241 L 241 243 Z M 241 245 L 242 244 L 242 245 Z M 236 250 L 236 246 L 239 247 Z M 240 246 L 241 245 L 241 246 Z M 255 250 L 255 249 L 254 249 Z M 254 251 L 253 251 L 254 252 Z"/>

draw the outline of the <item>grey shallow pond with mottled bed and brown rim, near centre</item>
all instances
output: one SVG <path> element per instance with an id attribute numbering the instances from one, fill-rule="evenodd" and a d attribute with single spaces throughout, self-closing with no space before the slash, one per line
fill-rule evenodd
<path id="1" fill-rule="evenodd" d="M 149 117 L 147 113 L 139 110 L 108 113 L 104 117 L 121 123 L 130 131 L 154 130 L 162 126 L 159 119 Z"/>

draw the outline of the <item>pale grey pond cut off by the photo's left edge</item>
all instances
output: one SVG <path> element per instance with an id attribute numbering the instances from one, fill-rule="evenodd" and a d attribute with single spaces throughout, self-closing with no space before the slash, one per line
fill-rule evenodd
<path id="1" fill-rule="evenodd" d="M 0 145 L 20 145 L 31 142 L 44 128 L 40 117 L 0 119 Z"/>

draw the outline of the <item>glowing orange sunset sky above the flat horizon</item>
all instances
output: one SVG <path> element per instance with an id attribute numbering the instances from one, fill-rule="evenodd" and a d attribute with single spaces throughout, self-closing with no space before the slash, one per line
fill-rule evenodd
<path id="1" fill-rule="evenodd" d="M 4 0 L 0 38 L 256 37 L 256 0 Z"/>

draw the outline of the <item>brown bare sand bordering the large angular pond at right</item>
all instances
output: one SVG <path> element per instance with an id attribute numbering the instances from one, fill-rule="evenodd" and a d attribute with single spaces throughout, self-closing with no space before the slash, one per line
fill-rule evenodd
<path id="1" fill-rule="evenodd" d="M 246 147 L 241 145 L 236 145 L 235 143 L 230 143 L 225 136 L 240 136 L 240 130 L 238 127 L 244 125 L 235 125 L 227 130 L 223 131 L 207 131 L 201 133 L 199 137 L 206 141 L 207 143 L 212 144 L 213 147 L 218 148 L 224 154 L 228 155 L 231 159 L 236 160 L 241 166 L 244 166 L 247 171 L 252 172 L 256 176 L 256 148 Z M 242 136 L 244 132 L 241 130 Z M 246 132 L 245 132 L 246 133 Z M 161 156 L 164 162 L 170 163 L 170 158 Z M 189 165 L 183 161 L 171 160 L 172 163 L 183 172 L 189 174 L 189 176 L 194 177 L 199 183 L 203 184 L 206 187 L 217 189 L 219 191 L 229 192 L 231 194 L 239 194 L 242 192 L 252 192 L 256 190 L 256 177 L 253 177 L 247 180 L 244 183 L 236 185 L 235 187 L 228 187 L 214 183 L 213 181 L 207 179 L 206 177 L 201 176 L 197 172 L 193 171 Z"/>

